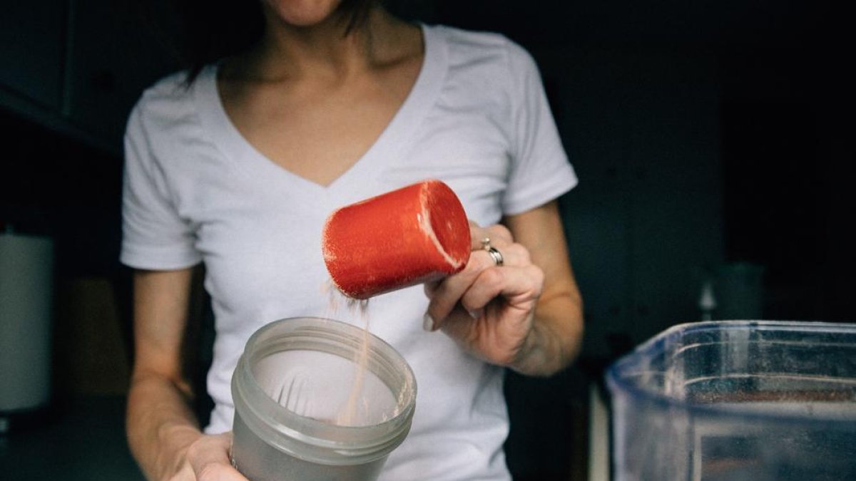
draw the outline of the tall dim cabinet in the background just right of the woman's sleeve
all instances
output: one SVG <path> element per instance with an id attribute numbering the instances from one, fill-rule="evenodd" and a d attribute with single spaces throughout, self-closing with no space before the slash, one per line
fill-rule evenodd
<path id="1" fill-rule="evenodd" d="M 719 93 L 712 57 L 535 52 L 580 186 L 562 198 L 584 296 L 584 353 L 609 357 L 698 320 L 722 261 Z"/>

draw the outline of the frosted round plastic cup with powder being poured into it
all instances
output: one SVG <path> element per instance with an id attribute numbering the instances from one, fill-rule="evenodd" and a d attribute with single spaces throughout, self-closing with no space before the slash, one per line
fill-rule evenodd
<path id="1" fill-rule="evenodd" d="M 367 336 L 366 371 L 350 403 Z M 232 462 L 252 481 L 372 480 L 410 431 L 413 371 L 350 324 L 290 318 L 247 341 L 232 377 Z"/>

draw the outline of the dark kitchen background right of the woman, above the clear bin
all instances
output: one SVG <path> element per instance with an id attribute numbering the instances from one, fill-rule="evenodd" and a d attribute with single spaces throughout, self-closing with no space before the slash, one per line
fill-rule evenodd
<path id="1" fill-rule="evenodd" d="M 538 60 L 580 174 L 562 207 L 587 355 L 700 319 L 705 281 L 712 318 L 856 318 L 844 3 L 430 4 Z"/>

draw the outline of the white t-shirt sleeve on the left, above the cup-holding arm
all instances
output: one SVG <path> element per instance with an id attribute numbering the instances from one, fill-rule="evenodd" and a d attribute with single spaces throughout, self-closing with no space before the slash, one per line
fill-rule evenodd
<path id="1" fill-rule="evenodd" d="M 167 175 L 152 149 L 152 130 L 138 104 L 125 133 L 120 261 L 136 269 L 182 269 L 198 264 L 201 256 L 194 248 L 193 229 L 176 210 Z"/>

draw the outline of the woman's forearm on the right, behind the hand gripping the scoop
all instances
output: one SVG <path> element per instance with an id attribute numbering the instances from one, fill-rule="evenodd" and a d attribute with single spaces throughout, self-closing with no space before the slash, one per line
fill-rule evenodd
<path id="1" fill-rule="evenodd" d="M 555 374 L 579 355 L 582 337 L 582 300 L 579 294 L 556 294 L 550 299 L 542 299 L 532 320 L 532 330 L 509 367 L 529 376 Z"/>

